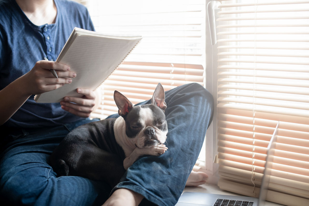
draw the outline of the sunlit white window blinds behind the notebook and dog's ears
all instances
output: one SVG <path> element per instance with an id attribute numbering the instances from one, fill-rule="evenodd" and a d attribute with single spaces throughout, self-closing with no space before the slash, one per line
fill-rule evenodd
<path id="1" fill-rule="evenodd" d="M 136 34 L 141 43 L 101 87 L 102 104 L 92 117 L 118 111 L 114 90 L 133 104 L 165 90 L 198 82 L 205 86 L 205 1 L 83 1 L 98 32 Z"/>

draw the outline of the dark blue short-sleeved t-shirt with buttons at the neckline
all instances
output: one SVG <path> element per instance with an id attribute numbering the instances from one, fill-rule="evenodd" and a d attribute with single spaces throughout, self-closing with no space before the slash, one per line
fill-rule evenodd
<path id="1" fill-rule="evenodd" d="M 67 0 L 54 2 L 56 22 L 36 26 L 15 0 L 0 1 L 0 90 L 26 74 L 44 57 L 55 61 L 74 27 L 94 31 L 85 6 Z M 60 103 L 36 103 L 34 95 L 1 127 L 53 127 L 83 119 L 61 109 Z"/>

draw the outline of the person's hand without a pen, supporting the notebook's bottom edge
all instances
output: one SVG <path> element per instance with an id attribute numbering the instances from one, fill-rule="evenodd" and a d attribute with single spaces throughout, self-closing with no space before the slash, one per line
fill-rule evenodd
<path id="1" fill-rule="evenodd" d="M 61 108 L 80 117 L 89 117 L 95 106 L 95 92 L 89 89 L 76 89 L 79 97 L 66 96 L 60 102 Z"/>

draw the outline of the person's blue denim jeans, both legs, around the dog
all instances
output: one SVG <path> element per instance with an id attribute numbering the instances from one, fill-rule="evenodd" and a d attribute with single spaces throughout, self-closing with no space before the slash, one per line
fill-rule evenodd
<path id="1" fill-rule="evenodd" d="M 157 205 L 175 205 L 201 150 L 214 110 L 212 95 L 193 83 L 166 92 L 167 151 L 138 159 L 110 188 L 83 177 L 56 177 L 49 156 L 83 120 L 44 130 L 23 130 L 0 159 L 0 199 L 20 205 L 100 205 L 111 191 L 127 188 Z M 149 101 L 139 103 L 146 104 Z M 117 117 L 112 115 L 110 117 Z M 109 117 L 109 118 L 110 118 Z M 149 202 L 148 202 L 149 203 Z"/>

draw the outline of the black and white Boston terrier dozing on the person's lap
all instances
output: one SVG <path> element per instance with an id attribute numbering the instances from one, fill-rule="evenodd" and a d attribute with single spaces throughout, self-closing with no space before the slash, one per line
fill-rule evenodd
<path id="1" fill-rule="evenodd" d="M 57 176 L 82 176 L 113 187 L 140 156 L 159 156 L 167 150 L 166 103 L 160 83 L 150 104 L 133 106 L 118 91 L 114 100 L 120 117 L 81 125 L 56 147 L 50 165 Z"/>

